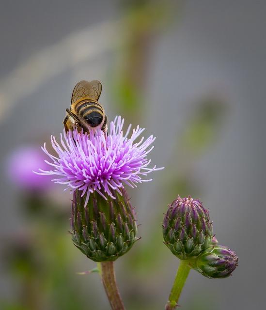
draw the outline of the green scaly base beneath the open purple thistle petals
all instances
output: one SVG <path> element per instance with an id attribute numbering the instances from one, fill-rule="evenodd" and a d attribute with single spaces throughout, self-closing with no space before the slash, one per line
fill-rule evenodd
<path id="1" fill-rule="evenodd" d="M 88 204 L 81 192 L 74 192 L 72 202 L 72 240 L 74 245 L 94 262 L 115 261 L 138 240 L 134 211 L 125 189 L 116 190 L 108 200 L 94 191 Z"/>

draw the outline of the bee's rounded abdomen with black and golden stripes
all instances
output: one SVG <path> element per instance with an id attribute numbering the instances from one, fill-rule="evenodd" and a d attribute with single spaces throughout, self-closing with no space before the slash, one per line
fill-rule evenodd
<path id="1" fill-rule="evenodd" d="M 75 110 L 79 119 L 91 127 L 96 127 L 103 122 L 104 109 L 96 101 L 80 101 L 76 104 Z"/>

